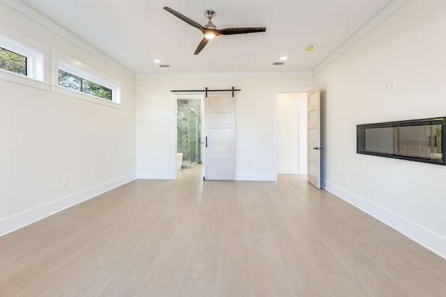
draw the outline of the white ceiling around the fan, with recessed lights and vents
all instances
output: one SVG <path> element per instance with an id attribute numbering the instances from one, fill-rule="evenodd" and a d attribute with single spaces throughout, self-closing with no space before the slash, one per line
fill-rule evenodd
<path id="1" fill-rule="evenodd" d="M 310 71 L 393 0 L 21 0 L 136 74 Z M 197 56 L 202 33 L 164 6 L 217 29 L 266 26 L 265 33 L 220 35 Z M 306 51 L 313 45 L 313 51 Z M 284 65 L 281 56 L 288 56 Z M 153 63 L 158 58 L 161 68 Z"/>

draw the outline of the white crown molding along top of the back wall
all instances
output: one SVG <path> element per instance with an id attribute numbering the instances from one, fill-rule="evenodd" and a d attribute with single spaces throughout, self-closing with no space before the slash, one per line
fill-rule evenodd
<path id="1" fill-rule="evenodd" d="M 137 79 L 226 79 L 226 78 L 275 78 L 275 77 L 313 77 L 311 71 L 274 71 L 274 72 L 197 72 L 171 74 L 137 74 Z"/>

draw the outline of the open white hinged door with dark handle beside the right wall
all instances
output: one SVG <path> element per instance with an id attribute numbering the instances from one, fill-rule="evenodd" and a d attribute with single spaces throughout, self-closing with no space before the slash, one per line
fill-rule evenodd
<path id="1" fill-rule="evenodd" d="M 319 88 L 308 93 L 308 182 L 321 188 L 321 94 Z"/>

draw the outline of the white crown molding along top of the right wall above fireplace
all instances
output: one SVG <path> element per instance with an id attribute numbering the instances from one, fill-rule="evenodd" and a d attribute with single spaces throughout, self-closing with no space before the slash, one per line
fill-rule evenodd
<path id="1" fill-rule="evenodd" d="M 341 54 L 354 45 L 358 40 L 360 40 L 364 35 L 367 35 L 370 31 L 376 28 L 380 23 L 384 22 L 385 19 L 390 17 L 399 8 L 404 6 L 410 0 L 393 0 L 389 1 L 385 7 L 378 10 L 378 12 L 371 17 L 369 22 L 365 23 L 360 29 L 358 29 L 353 35 L 351 35 L 345 42 L 343 42 L 337 49 L 335 49 L 327 58 L 325 58 L 321 63 L 319 63 L 313 69 L 313 75 L 321 71 L 325 66 L 336 60 Z"/>

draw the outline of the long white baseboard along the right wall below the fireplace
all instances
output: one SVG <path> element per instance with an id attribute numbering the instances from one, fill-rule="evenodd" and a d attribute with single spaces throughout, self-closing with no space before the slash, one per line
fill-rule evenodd
<path id="1" fill-rule="evenodd" d="M 344 188 L 331 184 L 325 180 L 322 181 L 322 184 L 325 184 L 325 190 L 337 195 L 342 200 L 345 200 L 358 209 L 361 209 L 370 216 L 373 216 L 386 225 L 394 228 L 394 230 L 408 236 L 408 238 L 419 243 L 421 246 L 424 246 L 424 248 L 427 248 L 428 250 L 435 252 L 440 257 L 446 259 L 446 239 L 442 236 L 435 234 L 426 228 L 407 220 L 406 218 L 402 218 L 401 216 L 398 216 L 387 209 L 383 209 L 383 207 L 373 204 L 364 198 L 360 198 Z"/>

